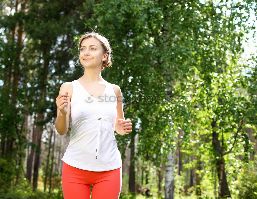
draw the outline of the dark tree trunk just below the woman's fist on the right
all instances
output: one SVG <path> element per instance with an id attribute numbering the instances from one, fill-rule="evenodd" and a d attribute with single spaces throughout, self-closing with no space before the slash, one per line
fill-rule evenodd
<path id="1" fill-rule="evenodd" d="M 135 156 L 135 137 L 132 134 L 130 136 L 130 167 L 129 167 L 129 182 L 128 182 L 128 189 L 135 196 L 135 163 L 134 163 L 134 156 Z"/>

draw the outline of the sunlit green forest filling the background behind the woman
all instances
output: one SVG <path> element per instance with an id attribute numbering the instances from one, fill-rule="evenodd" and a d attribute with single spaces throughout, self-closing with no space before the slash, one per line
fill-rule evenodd
<path id="1" fill-rule="evenodd" d="M 114 133 L 120 198 L 257 198 L 256 1 L 2 0 L 0 17 L 0 198 L 63 198 L 55 101 L 90 31 L 133 123 Z"/>

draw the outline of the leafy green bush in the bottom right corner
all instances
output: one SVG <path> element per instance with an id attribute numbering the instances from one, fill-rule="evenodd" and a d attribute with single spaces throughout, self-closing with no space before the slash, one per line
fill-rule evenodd
<path id="1" fill-rule="evenodd" d="M 257 160 L 250 161 L 248 165 L 240 169 L 238 180 L 235 183 L 238 199 L 257 198 Z"/>

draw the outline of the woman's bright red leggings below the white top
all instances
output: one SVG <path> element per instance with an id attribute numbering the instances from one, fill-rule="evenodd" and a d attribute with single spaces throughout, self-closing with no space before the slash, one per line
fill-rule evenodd
<path id="1" fill-rule="evenodd" d="M 118 199 L 122 186 L 122 168 L 110 171 L 88 171 L 62 165 L 62 191 L 64 199 Z"/>

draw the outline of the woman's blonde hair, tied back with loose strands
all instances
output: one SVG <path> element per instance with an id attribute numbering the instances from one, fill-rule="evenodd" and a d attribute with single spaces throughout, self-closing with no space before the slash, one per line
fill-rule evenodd
<path id="1" fill-rule="evenodd" d="M 79 49 L 79 51 L 80 51 L 80 47 L 81 47 L 82 41 L 84 39 L 90 38 L 90 37 L 96 38 L 102 44 L 102 47 L 104 49 L 104 54 L 107 53 L 107 59 L 105 61 L 103 61 L 102 68 L 104 69 L 105 66 L 107 68 L 111 67 L 112 66 L 113 57 L 112 57 L 112 49 L 111 49 L 110 43 L 109 43 L 109 41 L 108 41 L 108 39 L 106 37 L 100 35 L 99 33 L 92 31 L 92 32 L 86 32 L 84 35 L 82 35 L 80 37 L 80 39 L 79 39 L 79 42 L 78 42 L 78 49 Z M 76 64 L 78 62 L 79 62 L 79 58 L 78 58 Z"/>

